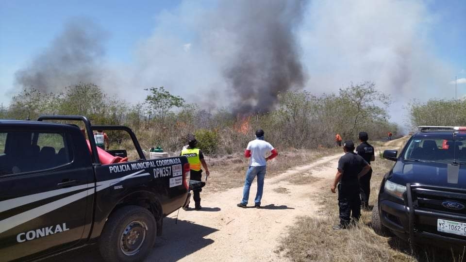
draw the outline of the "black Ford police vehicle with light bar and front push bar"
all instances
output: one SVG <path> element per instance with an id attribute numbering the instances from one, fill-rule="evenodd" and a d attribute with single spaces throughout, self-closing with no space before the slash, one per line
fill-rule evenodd
<path id="1" fill-rule="evenodd" d="M 384 176 L 372 227 L 411 243 L 466 244 L 466 128 L 421 126 Z"/>

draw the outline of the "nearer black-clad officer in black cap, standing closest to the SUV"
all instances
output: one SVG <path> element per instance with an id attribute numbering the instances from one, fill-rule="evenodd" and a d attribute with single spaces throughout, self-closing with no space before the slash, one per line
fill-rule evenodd
<path id="1" fill-rule="evenodd" d="M 370 165 L 361 156 L 354 153 L 354 143 L 351 140 L 343 144 L 343 155 L 338 161 L 338 171 L 330 190 L 335 193 L 338 184 L 338 206 L 340 208 L 340 224 L 333 229 L 346 229 L 361 216 L 361 199 L 359 198 L 359 179 L 370 169 Z"/>

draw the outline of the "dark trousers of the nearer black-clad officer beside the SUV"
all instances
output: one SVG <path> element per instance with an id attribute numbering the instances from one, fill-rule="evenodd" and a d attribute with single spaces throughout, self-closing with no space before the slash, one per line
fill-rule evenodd
<path id="1" fill-rule="evenodd" d="M 359 184 L 338 184 L 338 206 L 340 208 L 340 225 L 348 226 L 351 218 L 359 220 L 361 216 Z"/>

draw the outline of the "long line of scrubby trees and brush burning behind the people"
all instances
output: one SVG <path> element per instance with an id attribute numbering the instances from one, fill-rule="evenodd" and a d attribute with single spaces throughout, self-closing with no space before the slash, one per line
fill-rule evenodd
<path id="1" fill-rule="evenodd" d="M 161 146 L 167 151 L 179 151 L 194 133 L 199 146 L 212 155 L 243 150 L 258 128 L 266 132 L 267 141 L 283 149 L 332 147 L 336 133 L 356 140 L 359 131 L 367 131 L 371 139 L 398 132 L 398 126 L 386 120 L 389 95 L 372 82 L 351 83 L 338 93 L 322 95 L 284 92 L 274 110 L 248 115 L 235 115 L 228 108 L 206 111 L 164 87 L 145 90 L 147 97 L 131 104 L 93 83 L 68 86 L 60 93 L 27 88 L 11 99 L 0 117 L 34 120 L 39 115 L 85 115 L 93 124 L 127 125 L 144 149 Z M 116 135 L 110 139 L 125 143 Z"/>

